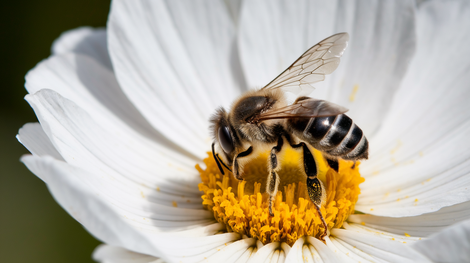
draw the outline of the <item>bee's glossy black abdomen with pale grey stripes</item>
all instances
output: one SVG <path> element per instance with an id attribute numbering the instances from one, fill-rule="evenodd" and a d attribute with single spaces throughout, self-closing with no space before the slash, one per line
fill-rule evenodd
<path id="1" fill-rule="evenodd" d="M 290 132 L 330 157 L 345 160 L 368 158 L 362 130 L 345 114 L 287 120 Z"/>

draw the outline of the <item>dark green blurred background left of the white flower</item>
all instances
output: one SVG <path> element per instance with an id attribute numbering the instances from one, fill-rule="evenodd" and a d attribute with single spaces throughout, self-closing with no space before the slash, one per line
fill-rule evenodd
<path id="1" fill-rule="evenodd" d="M 46 185 L 19 162 L 15 135 L 37 121 L 24 101 L 24 75 L 50 54 L 55 38 L 79 26 L 105 26 L 109 0 L 2 1 L 0 13 L 0 262 L 93 262 L 100 243 L 71 218 Z"/>

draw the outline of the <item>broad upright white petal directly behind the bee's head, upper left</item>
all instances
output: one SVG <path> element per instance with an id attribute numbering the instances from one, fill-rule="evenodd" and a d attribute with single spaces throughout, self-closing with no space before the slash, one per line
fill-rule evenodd
<path id="1" fill-rule="evenodd" d="M 243 82 L 222 2 L 113 1 L 111 60 L 125 94 L 172 142 L 203 158 L 209 115 Z"/>

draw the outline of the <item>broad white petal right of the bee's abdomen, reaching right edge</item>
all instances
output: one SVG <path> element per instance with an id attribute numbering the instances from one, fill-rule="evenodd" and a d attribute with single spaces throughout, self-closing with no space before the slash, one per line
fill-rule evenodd
<path id="1" fill-rule="evenodd" d="M 370 140 L 357 210 L 403 217 L 470 200 L 469 31 L 469 2 L 420 6 L 417 53 Z"/>

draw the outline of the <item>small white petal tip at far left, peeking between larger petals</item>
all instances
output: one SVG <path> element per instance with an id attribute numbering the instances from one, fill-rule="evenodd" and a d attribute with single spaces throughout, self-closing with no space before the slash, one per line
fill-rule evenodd
<path id="1" fill-rule="evenodd" d="M 60 153 L 55 150 L 46 133 L 38 122 L 26 123 L 18 131 L 16 138 L 33 155 L 50 155 L 57 160 L 63 160 Z"/>

